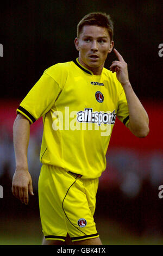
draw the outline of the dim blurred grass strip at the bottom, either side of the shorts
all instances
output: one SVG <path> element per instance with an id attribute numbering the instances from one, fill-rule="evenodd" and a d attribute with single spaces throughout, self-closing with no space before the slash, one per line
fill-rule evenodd
<path id="1" fill-rule="evenodd" d="M 0 245 L 41 245 L 40 217 L 30 220 L 12 218 L 1 220 Z M 162 236 L 136 236 L 122 225 L 110 220 L 96 220 L 103 245 L 163 245 Z"/>

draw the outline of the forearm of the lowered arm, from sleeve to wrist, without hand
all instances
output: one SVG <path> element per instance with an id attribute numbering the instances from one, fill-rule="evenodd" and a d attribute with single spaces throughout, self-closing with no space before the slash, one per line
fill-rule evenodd
<path id="1" fill-rule="evenodd" d="M 29 135 L 29 121 L 21 114 L 18 114 L 13 126 L 16 169 L 28 169 L 27 151 L 29 144 Z"/>

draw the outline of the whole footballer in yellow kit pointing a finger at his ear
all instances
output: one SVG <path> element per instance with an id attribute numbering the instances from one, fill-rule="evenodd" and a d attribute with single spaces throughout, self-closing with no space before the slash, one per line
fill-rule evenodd
<path id="1" fill-rule="evenodd" d="M 93 215 L 115 120 L 137 137 L 149 132 L 148 114 L 130 84 L 127 63 L 114 48 L 113 31 L 109 15 L 85 15 L 74 40 L 78 57 L 47 68 L 17 108 L 12 193 L 24 204 L 28 204 L 29 193 L 33 195 L 27 161 L 30 125 L 40 117 L 43 120 L 42 245 L 102 245 Z M 106 69 L 111 51 L 115 60 Z M 64 124 L 67 109 L 76 113 L 74 129 Z M 62 113 L 58 121 L 64 129 L 55 127 L 57 113 Z M 102 127 L 109 131 L 105 136 Z"/>

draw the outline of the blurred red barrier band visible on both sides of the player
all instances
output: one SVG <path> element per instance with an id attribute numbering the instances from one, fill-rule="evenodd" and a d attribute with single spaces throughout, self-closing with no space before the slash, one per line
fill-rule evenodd
<path id="1" fill-rule="evenodd" d="M 18 100 L 1 100 L 0 103 L 0 123 L 1 127 L 5 129 L 12 136 L 12 126 L 16 118 L 16 108 L 21 101 Z M 134 149 L 162 149 L 163 136 L 162 126 L 163 119 L 161 118 L 163 112 L 162 102 L 143 102 L 143 106 L 149 116 L 150 132 L 146 138 L 137 138 L 130 133 L 128 129 L 117 119 L 109 147 L 128 147 Z M 40 118 L 31 126 L 31 133 L 35 132 L 37 128 L 42 127 L 42 119 Z"/>

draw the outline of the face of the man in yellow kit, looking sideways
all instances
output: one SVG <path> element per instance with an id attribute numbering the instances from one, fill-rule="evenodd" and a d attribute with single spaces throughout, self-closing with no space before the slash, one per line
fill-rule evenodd
<path id="1" fill-rule="evenodd" d="M 105 59 L 114 46 L 114 41 L 110 40 L 105 27 L 84 26 L 79 38 L 75 39 L 75 45 L 79 51 L 79 62 L 92 70 L 94 74 L 101 74 Z"/>

